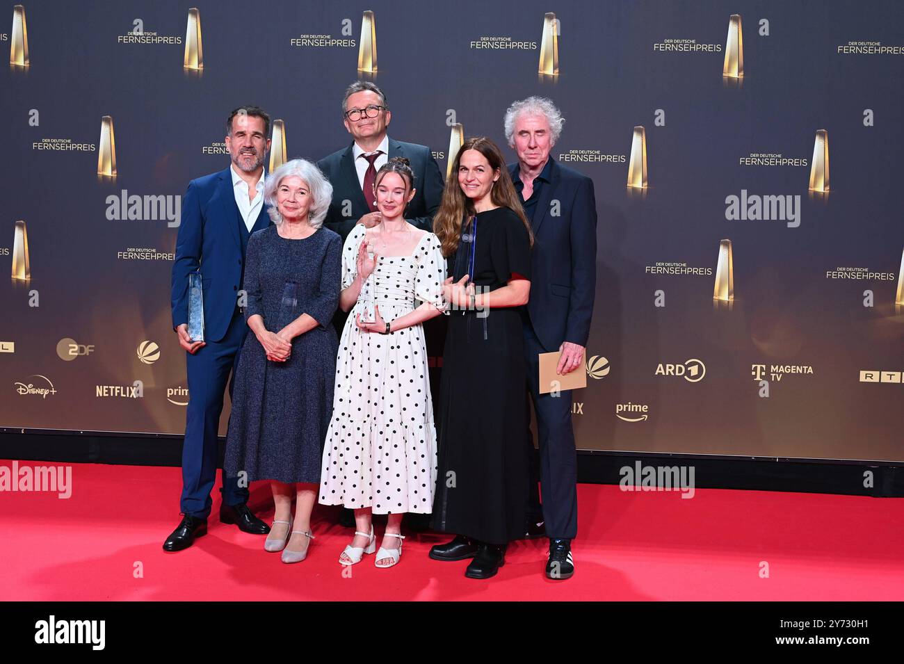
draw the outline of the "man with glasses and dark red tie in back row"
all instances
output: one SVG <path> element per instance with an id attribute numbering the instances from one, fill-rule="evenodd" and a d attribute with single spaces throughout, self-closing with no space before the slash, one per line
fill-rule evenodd
<path id="1" fill-rule="evenodd" d="M 373 181 L 380 167 L 398 156 L 408 159 L 417 190 L 405 219 L 432 232 L 444 183 L 430 149 L 386 136 L 392 113 L 382 90 L 369 81 L 356 80 L 345 90 L 342 110 L 345 129 L 352 135 L 353 143 L 317 162 L 333 185 L 333 202 L 324 221 L 326 228 L 339 233 L 345 241 L 355 224 L 370 229 L 380 223 Z"/>

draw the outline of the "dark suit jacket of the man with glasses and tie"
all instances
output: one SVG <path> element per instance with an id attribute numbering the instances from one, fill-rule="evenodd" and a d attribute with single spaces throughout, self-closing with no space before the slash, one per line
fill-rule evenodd
<path id="1" fill-rule="evenodd" d="M 364 200 L 358 172 L 354 168 L 353 145 L 349 144 L 344 150 L 338 150 L 317 162 L 317 167 L 333 185 L 333 202 L 326 213 L 324 225 L 339 233 L 343 242 L 355 223 L 371 211 Z M 427 145 L 402 143 L 390 138 L 389 158 L 392 157 L 409 160 L 414 172 L 414 188 L 418 190 L 409 203 L 405 218 L 419 229 L 433 232 L 433 215 L 439 210 L 445 186 L 437 161 Z M 351 206 L 346 206 L 344 201 L 351 201 Z M 346 214 L 343 214 L 344 211 Z"/>

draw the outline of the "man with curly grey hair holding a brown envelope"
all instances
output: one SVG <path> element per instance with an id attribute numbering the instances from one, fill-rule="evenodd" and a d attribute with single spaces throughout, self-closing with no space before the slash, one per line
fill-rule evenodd
<path id="1" fill-rule="evenodd" d="M 571 540 L 578 534 L 578 472 L 571 428 L 571 390 L 540 394 L 539 355 L 561 353 L 560 374 L 583 370 L 597 285 L 597 203 L 589 177 L 558 164 L 550 150 L 564 119 L 550 99 L 516 101 L 505 113 L 505 137 L 518 162 L 512 182 L 531 221 L 531 299 L 523 310 L 528 389 L 537 416 L 539 478 L 532 454 L 528 536 L 545 526 L 546 575 L 574 574 Z M 528 424 L 527 444 L 533 452 Z M 537 495 L 540 481 L 543 504 Z"/>

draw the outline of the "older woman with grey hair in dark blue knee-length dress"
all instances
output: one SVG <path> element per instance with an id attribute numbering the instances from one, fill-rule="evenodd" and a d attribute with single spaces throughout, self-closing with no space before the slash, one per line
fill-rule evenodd
<path id="1" fill-rule="evenodd" d="M 314 538 L 311 510 L 333 412 L 342 240 L 322 228 L 332 195 L 304 159 L 269 175 L 264 201 L 274 224 L 249 238 L 237 294 L 253 335 L 235 370 L 223 467 L 240 482 L 270 481 L 276 513 L 264 548 L 282 551 L 284 563 L 304 560 Z"/>

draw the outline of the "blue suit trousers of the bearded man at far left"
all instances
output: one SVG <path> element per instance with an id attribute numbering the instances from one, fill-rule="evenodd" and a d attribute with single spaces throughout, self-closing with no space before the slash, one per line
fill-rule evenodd
<path id="1" fill-rule="evenodd" d="M 217 475 L 217 432 L 223 410 L 226 381 L 239 365 L 241 344 L 248 326 L 240 313 L 232 317 L 221 341 L 207 341 L 192 355 L 185 353 L 188 370 L 188 407 L 185 414 L 185 442 L 182 447 L 182 499 L 184 514 L 206 519 L 211 513 L 211 490 Z M 230 397 L 232 381 L 229 382 Z M 223 503 L 240 505 L 248 501 L 248 489 L 238 478 L 222 478 Z"/>

